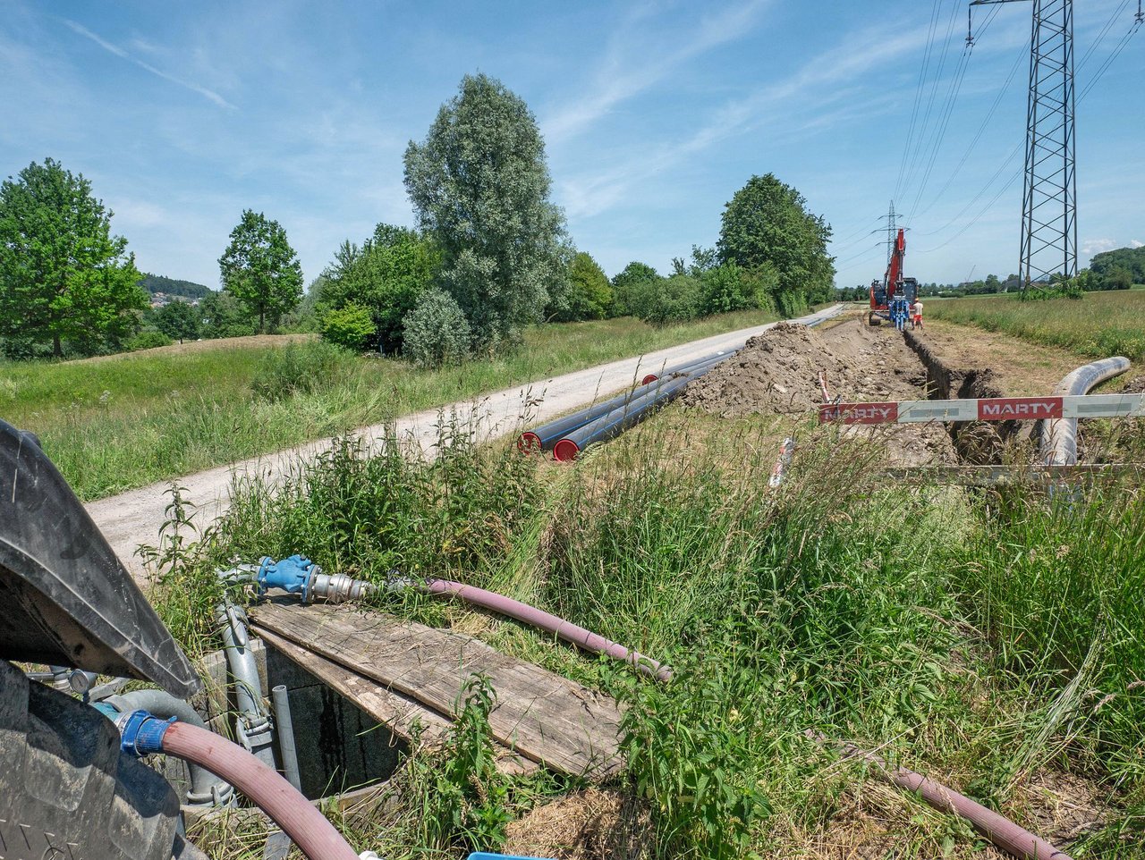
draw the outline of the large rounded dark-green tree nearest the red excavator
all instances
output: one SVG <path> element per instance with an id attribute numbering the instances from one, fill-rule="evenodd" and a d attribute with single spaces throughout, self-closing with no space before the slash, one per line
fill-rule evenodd
<path id="1" fill-rule="evenodd" d="M 803 194 L 767 174 L 752 176 L 724 208 L 717 249 L 721 262 L 748 271 L 775 266 L 776 306 L 792 312 L 830 298 L 830 238 L 831 228 L 807 209 Z"/>

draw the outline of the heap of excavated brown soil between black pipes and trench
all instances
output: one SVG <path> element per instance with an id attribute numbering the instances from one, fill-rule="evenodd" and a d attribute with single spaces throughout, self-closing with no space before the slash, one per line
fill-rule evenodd
<path id="1" fill-rule="evenodd" d="M 924 381 L 901 336 L 871 331 L 860 322 L 820 334 L 780 322 L 748 341 L 742 350 L 688 385 L 681 401 L 722 417 L 749 413 L 805 413 L 823 401 L 819 375 L 832 395 L 845 400 L 918 396 Z"/>

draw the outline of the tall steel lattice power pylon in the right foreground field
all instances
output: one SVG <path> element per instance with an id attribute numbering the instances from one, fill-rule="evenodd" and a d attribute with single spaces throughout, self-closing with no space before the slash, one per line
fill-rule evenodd
<path id="1" fill-rule="evenodd" d="M 971 0 L 971 6 L 1025 0 Z M 1033 0 L 1026 168 L 1021 205 L 1021 288 L 1077 274 L 1074 157 L 1073 0 Z"/>

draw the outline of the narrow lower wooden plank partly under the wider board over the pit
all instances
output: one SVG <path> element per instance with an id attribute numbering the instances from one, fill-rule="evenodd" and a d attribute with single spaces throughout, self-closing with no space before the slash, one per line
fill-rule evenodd
<path id="1" fill-rule="evenodd" d="M 421 726 L 421 740 L 442 743 L 450 720 L 421 702 L 395 693 L 376 680 L 365 678 L 345 666 L 326 660 L 278 634 L 259 628 L 259 636 L 295 664 L 322 679 L 335 692 L 389 728 L 398 738 L 412 741 L 416 725 Z M 497 744 L 497 769 L 503 773 L 524 774 L 537 770 L 537 763 Z"/>

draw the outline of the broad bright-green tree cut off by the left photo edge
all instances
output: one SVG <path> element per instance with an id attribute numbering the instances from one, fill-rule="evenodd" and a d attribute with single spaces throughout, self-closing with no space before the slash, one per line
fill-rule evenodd
<path id="1" fill-rule="evenodd" d="M 117 347 L 148 306 L 135 255 L 84 175 L 31 164 L 0 184 L 0 336 Z"/>

